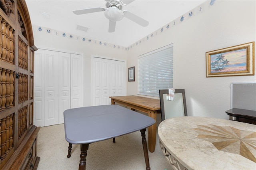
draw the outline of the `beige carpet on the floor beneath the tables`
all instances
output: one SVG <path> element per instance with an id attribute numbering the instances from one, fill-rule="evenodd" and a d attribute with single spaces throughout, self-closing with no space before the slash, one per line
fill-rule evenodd
<path id="1" fill-rule="evenodd" d="M 146 131 L 147 132 L 147 131 Z M 163 155 L 156 134 L 155 152 L 149 154 L 151 170 L 172 170 Z M 146 134 L 146 139 L 148 135 Z M 38 133 L 38 170 L 78 170 L 80 145 L 73 144 L 67 158 L 68 142 L 64 124 L 42 127 Z M 146 164 L 140 131 L 89 144 L 86 157 L 87 170 L 145 170 Z"/>

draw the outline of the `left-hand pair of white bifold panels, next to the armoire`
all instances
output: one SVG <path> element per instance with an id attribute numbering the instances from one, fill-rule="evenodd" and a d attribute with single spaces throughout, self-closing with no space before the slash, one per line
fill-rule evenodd
<path id="1" fill-rule="evenodd" d="M 35 52 L 34 125 L 58 124 L 58 52 Z"/>

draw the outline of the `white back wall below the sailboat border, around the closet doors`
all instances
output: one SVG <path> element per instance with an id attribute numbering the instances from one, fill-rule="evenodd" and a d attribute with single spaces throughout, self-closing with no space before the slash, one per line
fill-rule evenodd
<path id="1" fill-rule="evenodd" d="M 54 36 L 53 34 L 38 31 L 38 26 L 33 26 L 34 42 L 36 47 L 53 49 L 69 53 L 82 53 L 84 55 L 84 106 L 91 106 L 91 59 L 92 55 L 108 57 L 126 61 L 127 51 L 114 47 L 106 47 L 70 39 L 69 37 Z M 36 65 L 35 65 L 36 67 Z"/>

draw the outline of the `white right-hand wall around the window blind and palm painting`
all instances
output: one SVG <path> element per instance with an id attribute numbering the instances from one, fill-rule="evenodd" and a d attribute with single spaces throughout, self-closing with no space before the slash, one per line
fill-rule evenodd
<path id="1" fill-rule="evenodd" d="M 173 43 L 174 88 L 185 89 L 188 116 L 228 119 L 230 83 L 256 82 L 256 75 L 206 78 L 205 55 L 256 40 L 256 1 L 222 0 L 213 6 L 209 2 L 201 13 L 195 10 L 188 20 L 178 20 L 166 32 L 129 49 L 127 66 L 136 70 L 139 55 Z M 127 83 L 127 95 L 137 95 L 137 82 Z"/>

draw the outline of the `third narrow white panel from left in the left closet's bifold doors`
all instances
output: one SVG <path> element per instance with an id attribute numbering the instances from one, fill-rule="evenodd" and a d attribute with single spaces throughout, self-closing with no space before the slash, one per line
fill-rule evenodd
<path id="1" fill-rule="evenodd" d="M 70 53 L 58 52 L 58 60 L 58 124 L 61 124 L 63 112 L 70 109 Z"/>

